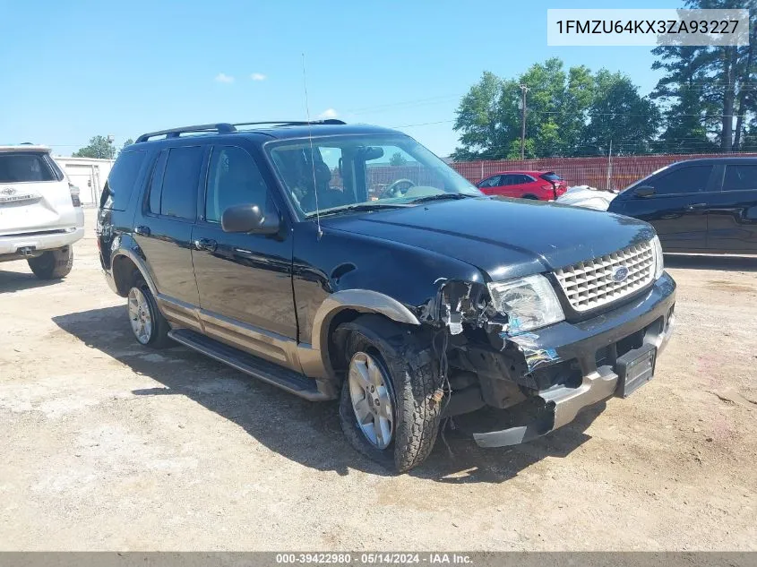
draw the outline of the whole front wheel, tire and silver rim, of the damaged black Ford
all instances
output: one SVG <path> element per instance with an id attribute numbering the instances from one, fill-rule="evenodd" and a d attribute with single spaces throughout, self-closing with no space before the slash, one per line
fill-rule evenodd
<path id="1" fill-rule="evenodd" d="M 417 467 L 434 448 L 442 409 L 433 398 L 438 384 L 431 358 L 406 331 L 377 315 L 340 325 L 337 332 L 348 333 L 340 398 L 348 441 L 397 472 Z"/>

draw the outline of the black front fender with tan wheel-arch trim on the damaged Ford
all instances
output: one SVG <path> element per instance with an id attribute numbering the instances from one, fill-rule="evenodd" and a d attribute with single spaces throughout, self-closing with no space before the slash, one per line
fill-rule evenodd
<path id="1" fill-rule="evenodd" d="M 344 310 L 415 327 L 441 325 L 450 292 L 486 288 L 477 267 L 430 250 L 329 228 L 318 236 L 314 223 L 295 231 L 292 285 L 300 360 L 309 376 L 333 376 L 329 332 Z"/>

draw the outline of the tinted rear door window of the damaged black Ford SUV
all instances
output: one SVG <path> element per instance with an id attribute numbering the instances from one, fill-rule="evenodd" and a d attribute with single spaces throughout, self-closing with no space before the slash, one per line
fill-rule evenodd
<path id="1" fill-rule="evenodd" d="M 202 146 L 171 148 L 168 151 L 160 194 L 161 215 L 194 220 L 203 152 Z"/>

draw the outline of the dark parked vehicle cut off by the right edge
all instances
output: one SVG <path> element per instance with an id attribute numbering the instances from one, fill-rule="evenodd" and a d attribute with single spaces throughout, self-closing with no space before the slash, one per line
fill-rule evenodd
<path id="1" fill-rule="evenodd" d="M 651 223 L 666 252 L 757 253 L 757 158 L 679 161 L 608 210 Z"/>

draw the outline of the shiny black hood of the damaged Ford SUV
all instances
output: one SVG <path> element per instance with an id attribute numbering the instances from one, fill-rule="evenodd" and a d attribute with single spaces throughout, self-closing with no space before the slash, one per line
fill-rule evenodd
<path id="1" fill-rule="evenodd" d="M 452 256 L 495 280 L 553 271 L 654 236 L 647 223 L 621 215 L 499 198 L 348 213 L 322 225 Z"/>

